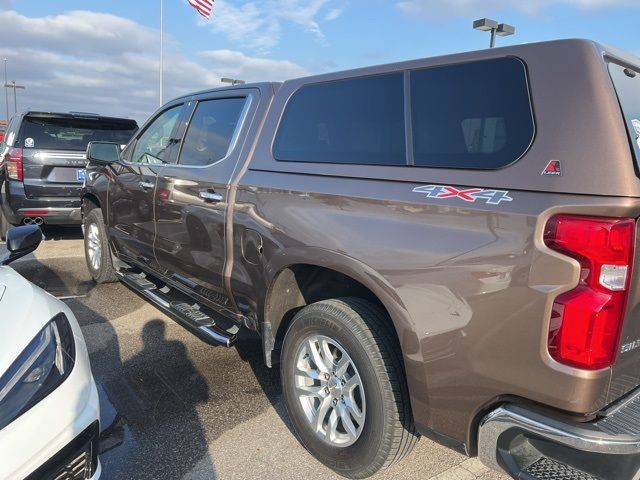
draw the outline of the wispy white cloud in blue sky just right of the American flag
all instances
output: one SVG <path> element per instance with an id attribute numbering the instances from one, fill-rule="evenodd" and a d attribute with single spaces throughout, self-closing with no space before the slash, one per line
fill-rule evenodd
<path id="1" fill-rule="evenodd" d="M 254 0 L 236 5 L 220 0 L 215 3 L 210 22 L 217 32 L 225 34 L 231 41 L 265 53 L 278 45 L 285 24 L 293 24 L 305 32 L 323 39 L 321 21 L 337 18 L 341 10 L 327 10 L 335 0 Z M 324 14 L 324 15 L 323 15 Z M 322 20 L 319 20 L 322 17 Z"/>

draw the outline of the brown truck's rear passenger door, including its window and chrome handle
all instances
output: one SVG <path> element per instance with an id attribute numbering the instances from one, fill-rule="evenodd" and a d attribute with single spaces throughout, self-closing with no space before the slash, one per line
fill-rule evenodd
<path id="1" fill-rule="evenodd" d="M 195 97 L 177 162 L 158 176 L 156 259 L 183 290 L 222 311 L 234 311 L 223 281 L 229 183 L 258 99 L 253 88 Z"/>

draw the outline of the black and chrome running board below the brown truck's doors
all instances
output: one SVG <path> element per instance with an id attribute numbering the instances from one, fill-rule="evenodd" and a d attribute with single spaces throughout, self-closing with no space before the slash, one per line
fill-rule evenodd
<path id="1" fill-rule="evenodd" d="M 236 323 L 195 303 L 178 290 L 145 273 L 121 270 L 116 275 L 125 285 L 206 343 L 231 347 L 236 342 L 240 330 Z"/>

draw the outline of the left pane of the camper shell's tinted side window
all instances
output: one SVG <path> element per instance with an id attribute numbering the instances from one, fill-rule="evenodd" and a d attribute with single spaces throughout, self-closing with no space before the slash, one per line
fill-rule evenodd
<path id="1" fill-rule="evenodd" d="M 302 87 L 285 108 L 277 160 L 404 165 L 402 73 Z"/>

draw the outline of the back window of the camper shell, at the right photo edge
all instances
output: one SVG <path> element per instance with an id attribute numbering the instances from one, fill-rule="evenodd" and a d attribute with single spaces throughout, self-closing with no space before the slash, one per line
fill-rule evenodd
<path id="1" fill-rule="evenodd" d="M 609 64 L 609 72 L 631 137 L 636 163 L 640 163 L 640 73 L 615 63 Z"/>

